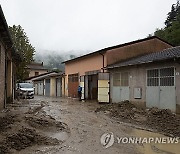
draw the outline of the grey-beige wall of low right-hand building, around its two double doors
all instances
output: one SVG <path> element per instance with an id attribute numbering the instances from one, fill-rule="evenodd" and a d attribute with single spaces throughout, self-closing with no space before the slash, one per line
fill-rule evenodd
<path id="1" fill-rule="evenodd" d="M 147 69 L 163 68 L 163 67 L 175 67 L 175 86 L 176 86 L 176 112 L 180 113 L 180 64 L 176 62 L 161 62 L 156 64 L 144 64 L 137 66 L 127 66 L 117 69 L 109 70 L 111 73 L 110 82 L 110 97 L 112 100 L 112 73 L 114 72 L 129 72 L 129 88 L 130 88 L 130 100 L 139 106 L 144 107 L 146 105 L 146 71 Z M 142 89 L 142 98 L 134 99 L 134 88 Z"/>

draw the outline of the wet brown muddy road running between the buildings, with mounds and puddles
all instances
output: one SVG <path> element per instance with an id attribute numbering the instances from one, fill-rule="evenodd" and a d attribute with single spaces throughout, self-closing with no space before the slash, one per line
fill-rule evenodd
<path id="1" fill-rule="evenodd" d="M 114 144 L 105 148 L 104 133 L 117 137 L 165 137 L 116 121 L 108 112 L 95 112 L 96 102 L 35 97 L 8 105 L 0 112 L 0 153 L 19 154 L 136 154 L 178 153 L 175 144 Z M 105 145 L 105 144 L 104 144 Z"/>

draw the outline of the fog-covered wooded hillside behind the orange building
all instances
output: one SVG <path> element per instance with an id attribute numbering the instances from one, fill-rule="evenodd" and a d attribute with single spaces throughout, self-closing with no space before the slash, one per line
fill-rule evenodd
<path id="1" fill-rule="evenodd" d="M 47 67 L 49 70 L 53 69 L 59 69 L 61 71 L 64 71 L 64 64 L 62 64 L 63 61 L 70 60 L 82 55 L 85 55 L 87 53 L 90 53 L 91 51 L 86 50 L 71 50 L 71 51 L 50 51 L 50 50 L 38 50 L 36 51 L 36 54 L 34 56 L 35 62 L 43 62 L 44 66 Z"/>

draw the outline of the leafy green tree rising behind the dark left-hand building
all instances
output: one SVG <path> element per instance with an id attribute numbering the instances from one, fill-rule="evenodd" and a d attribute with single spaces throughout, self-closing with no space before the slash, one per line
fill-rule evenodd
<path id="1" fill-rule="evenodd" d="M 30 44 L 29 38 L 20 25 L 9 26 L 9 31 L 13 40 L 13 46 L 22 57 L 22 62 L 17 66 L 16 72 L 17 80 L 22 81 L 28 77 L 28 72 L 25 68 L 34 61 L 35 48 Z"/>

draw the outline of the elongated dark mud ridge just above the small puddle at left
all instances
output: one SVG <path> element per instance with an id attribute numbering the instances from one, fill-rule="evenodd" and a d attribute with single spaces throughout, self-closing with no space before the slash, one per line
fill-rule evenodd
<path id="1" fill-rule="evenodd" d="M 68 130 L 68 127 L 65 123 L 56 121 L 54 119 L 45 119 L 45 118 L 37 118 L 37 117 L 25 117 L 26 122 L 34 128 L 37 129 L 46 129 L 52 130 L 53 128 L 57 131 Z"/>

